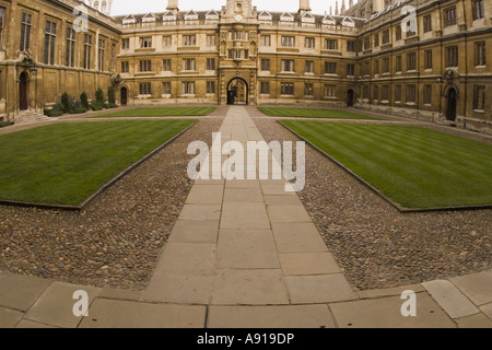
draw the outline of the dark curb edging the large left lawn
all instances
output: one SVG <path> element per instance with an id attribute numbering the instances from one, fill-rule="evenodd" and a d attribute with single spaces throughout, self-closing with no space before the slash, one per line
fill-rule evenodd
<path id="1" fill-rule="evenodd" d="M 156 153 L 162 151 L 166 145 L 174 142 L 177 138 L 179 138 L 181 135 L 184 135 L 186 131 L 188 131 L 190 128 L 192 128 L 198 120 L 192 122 L 190 126 L 188 126 L 186 129 L 180 131 L 179 133 L 175 135 L 173 138 L 161 144 L 159 148 L 153 150 L 152 152 L 148 153 L 145 156 L 140 159 L 138 162 L 131 164 L 129 167 L 124 170 L 121 173 L 113 177 L 108 183 L 101 186 L 95 192 L 90 195 L 87 198 L 85 198 L 79 206 L 65 206 L 65 205 L 48 205 L 48 203 L 36 203 L 36 202 L 27 202 L 27 201 L 15 201 L 15 200 L 3 200 L 0 199 L 0 206 L 10 206 L 10 207 L 25 207 L 25 208 L 37 208 L 37 209 L 51 209 L 51 210 L 65 210 L 65 211 L 82 211 L 85 209 L 94 199 L 96 199 L 98 196 L 104 194 L 106 190 L 112 188 L 116 183 L 118 183 L 121 178 L 124 178 L 128 173 L 133 171 L 134 168 L 139 167 L 141 164 L 147 162 L 149 159 L 154 156 Z"/>

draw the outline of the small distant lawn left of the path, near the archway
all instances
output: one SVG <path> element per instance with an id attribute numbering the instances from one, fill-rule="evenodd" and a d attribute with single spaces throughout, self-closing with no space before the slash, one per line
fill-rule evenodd
<path id="1" fill-rule="evenodd" d="M 216 108 L 214 107 L 161 107 L 161 108 L 136 108 L 103 114 L 93 118 L 122 118 L 122 117 L 198 117 L 208 116 Z"/>

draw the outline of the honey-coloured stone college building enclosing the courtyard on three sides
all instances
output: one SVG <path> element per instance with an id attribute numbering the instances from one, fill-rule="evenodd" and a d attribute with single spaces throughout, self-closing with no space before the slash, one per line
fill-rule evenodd
<path id="1" fill-rule="evenodd" d="M 31 108 L 56 102 L 65 91 L 77 95 L 120 81 L 122 105 L 348 105 L 470 129 L 491 127 L 488 0 L 341 0 L 335 13 L 324 15 L 312 13 L 309 0 L 301 0 L 295 13 L 258 10 L 250 0 L 180 11 L 177 0 L 168 0 L 162 12 L 116 18 L 101 12 L 102 1 L 85 2 L 94 43 L 90 69 L 83 68 L 81 33 L 73 67 L 63 65 L 65 34 L 56 37 L 55 67 L 43 61 L 43 45 L 24 55 L 17 39 L 24 1 L 0 0 L 2 23 L 10 23 L 1 30 L 8 39 L 0 50 L 0 115 L 12 118 L 19 112 L 25 71 Z M 70 7 L 80 3 L 32 0 L 28 8 L 38 8 L 37 24 L 54 16 L 65 31 L 74 21 Z M 110 5 L 107 1 L 105 10 Z M 99 36 L 106 38 L 102 70 L 95 65 Z M 38 43 L 45 42 L 39 34 Z M 37 70 L 23 68 L 24 60 Z"/>

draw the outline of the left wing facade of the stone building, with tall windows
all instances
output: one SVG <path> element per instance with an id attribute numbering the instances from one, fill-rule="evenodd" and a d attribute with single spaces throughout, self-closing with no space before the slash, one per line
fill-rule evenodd
<path id="1" fill-rule="evenodd" d="M 77 32 L 84 12 L 87 32 Z M 65 92 L 93 98 L 107 90 L 120 37 L 114 20 L 77 0 L 0 0 L 0 120 L 43 112 Z"/>

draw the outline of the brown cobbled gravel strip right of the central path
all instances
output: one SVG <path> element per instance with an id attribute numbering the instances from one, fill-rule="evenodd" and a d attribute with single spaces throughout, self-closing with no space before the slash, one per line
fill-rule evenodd
<path id="1" fill-rule="evenodd" d="M 268 142 L 300 140 L 274 119 L 254 120 Z M 401 214 L 311 147 L 298 196 L 358 290 L 492 268 L 490 210 Z"/>

